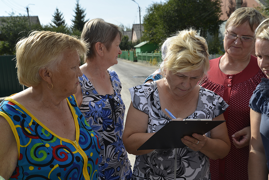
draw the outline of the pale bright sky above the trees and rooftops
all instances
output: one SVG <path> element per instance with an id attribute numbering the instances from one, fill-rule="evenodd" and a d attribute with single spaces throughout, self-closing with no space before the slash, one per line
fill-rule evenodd
<path id="1" fill-rule="evenodd" d="M 141 23 L 146 14 L 146 8 L 155 2 L 165 2 L 166 0 L 135 0 L 140 6 Z M 80 0 L 80 7 L 85 9 L 85 20 L 102 18 L 106 22 L 115 25 L 124 25 L 132 28 L 133 24 L 139 24 L 138 4 L 133 0 Z M 0 0 L 0 16 L 26 15 L 26 7 L 29 16 L 38 16 L 41 25 L 52 23 L 56 7 L 63 14 L 68 26 L 72 25 L 76 0 Z"/>

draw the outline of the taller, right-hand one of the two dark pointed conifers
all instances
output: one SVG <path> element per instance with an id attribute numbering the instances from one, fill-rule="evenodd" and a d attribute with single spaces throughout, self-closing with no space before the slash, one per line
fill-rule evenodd
<path id="1" fill-rule="evenodd" d="M 74 12 L 76 15 L 74 16 L 74 19 L 72 19 L 73 29 L 82 31 L 85 22 L 87 22 L 88 20 L 85 20 L 85 9 L 82 9 L 80 7 L 79 0 L 77 0 L 76 9 L 74 10 Z"/>

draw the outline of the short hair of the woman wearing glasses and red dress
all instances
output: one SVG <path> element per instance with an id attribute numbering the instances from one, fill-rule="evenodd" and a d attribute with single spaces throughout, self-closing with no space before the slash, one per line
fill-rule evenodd
<path id="1" fill-rule="evenodd" d="M 230 15 L 225 24 L 225 31 L 230 26 L 238 27 L 247 21 L 249 22 L 251 31 L 254 32 L 262 19 L 262 14 L 253 7 L 240 7 Z"/>

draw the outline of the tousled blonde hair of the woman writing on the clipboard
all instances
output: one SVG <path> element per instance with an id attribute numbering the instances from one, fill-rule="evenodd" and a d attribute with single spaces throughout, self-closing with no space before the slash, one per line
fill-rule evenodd
<path id="1" fill-rule="evenodd" d="M 197 35 L 193 29 L 178 31 L 176 36 L 170 37 L 166 50 L 166 59 L 161 68 L 177 72 L 189 72 L 203 69 L 203 76 L 209 70 L 209 53 L 207 42 L 203 37 Z"/>

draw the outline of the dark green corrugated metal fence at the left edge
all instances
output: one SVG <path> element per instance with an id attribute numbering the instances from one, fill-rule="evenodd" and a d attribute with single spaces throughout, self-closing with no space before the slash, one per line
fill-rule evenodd
<path id="1" fill-rule="evenodd" d="M 23 90 L 17 76 L 15 56 L 0 56 L 0 97 L 10 96 Z"/>

